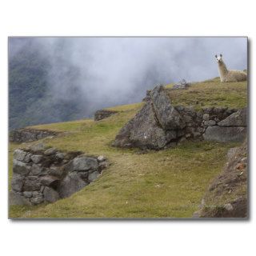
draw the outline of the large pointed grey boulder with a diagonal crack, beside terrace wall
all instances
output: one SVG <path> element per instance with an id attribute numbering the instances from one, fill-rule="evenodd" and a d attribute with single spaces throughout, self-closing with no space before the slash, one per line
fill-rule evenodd
<path id="1" fill-rule="evenodd" d="M 156 86 L 150 100 L 120 130 L 113 143 L 120 147 L 162 149 L 177 138 L 177 130 L 186 126 L 170 104 L 163 86 Z"/>

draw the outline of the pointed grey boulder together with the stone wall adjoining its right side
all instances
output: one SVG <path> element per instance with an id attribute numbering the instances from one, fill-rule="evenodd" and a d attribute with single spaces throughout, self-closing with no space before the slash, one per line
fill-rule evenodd
<path id="1" fill-rule="evenodd" d="M 113 146 L 160 150 L 190 139 L 242 142 L 246 108 L 173 106 L 163 86 L 150 91 L 138 111 L 116 136 Z"/>

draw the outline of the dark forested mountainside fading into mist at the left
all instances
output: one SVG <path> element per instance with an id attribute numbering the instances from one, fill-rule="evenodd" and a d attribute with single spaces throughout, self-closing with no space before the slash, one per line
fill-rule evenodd
<path id="1" fill-rule="evenodd" d="M 71 88 L 69 97 L 56 100 L 51 93 L 48 74 L 50 62 L 29 43 L 9 58 L 10 130 L 83 117 L 77 100 L 79 91 Z M 70 79 L 77 70 L 70 66 Z M 72 96 L 71 96 L 72 95 Z"/>

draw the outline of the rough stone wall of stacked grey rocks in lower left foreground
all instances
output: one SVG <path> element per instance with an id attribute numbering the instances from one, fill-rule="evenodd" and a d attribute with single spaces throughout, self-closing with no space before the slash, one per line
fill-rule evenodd
<path id="1" fill-rule="evenodd" d="M 108 166 L 103 156 L 45 149 L 14 150 L 10 205 L 38 205 L 69 197 L 93 182 Z"/>

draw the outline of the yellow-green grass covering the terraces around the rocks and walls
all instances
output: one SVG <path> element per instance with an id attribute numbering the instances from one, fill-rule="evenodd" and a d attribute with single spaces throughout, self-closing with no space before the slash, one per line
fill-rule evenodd
<path id="1" fill-rule="evenodd" d="M 246 106 L 246 82 L 221 85 L 213 79 L 171 94 L 174 104 L 192 104 L 197 108 L 197 100 L 205 102 L 205 106 Z M 142 103 L 136 103 L 110 108 L 121 112 L 98 122 L 86 119 L 34 126 L 66 131 L 62 137 L 44 139 L 48 146 L 104 154 L 111 166 L 90 186 L 70 198 L 36 207 L 11 206 L 10 218 L 191 217 L 198 209 L 210 180 L 221 172 L 227 150 L 238 144 L 194 142 L 148 154 L 136 154 L 136 149 L 111 147 L 118 130 L 141 106 Z M 20 146 L 10 145 L 10 175 L 12 152 Z"/>

